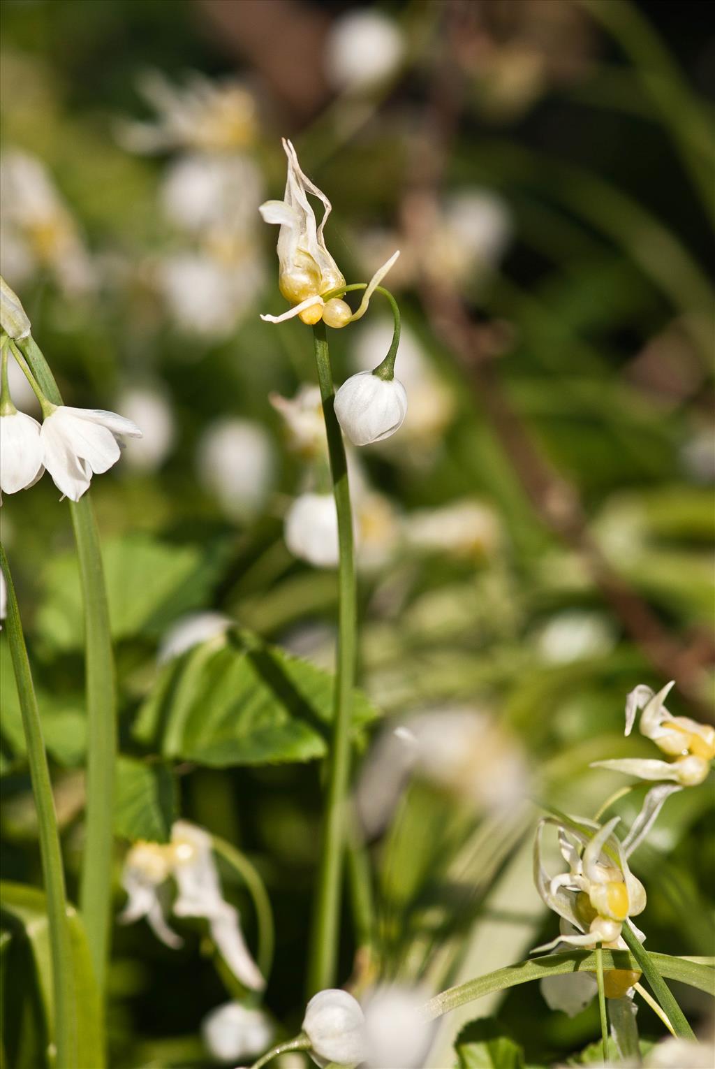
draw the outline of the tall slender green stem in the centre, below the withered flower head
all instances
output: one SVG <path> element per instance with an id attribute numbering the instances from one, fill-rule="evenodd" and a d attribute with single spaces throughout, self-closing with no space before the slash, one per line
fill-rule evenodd
<path id="1" fill-rule="evenodd" d="M 347 463 L 340 424 L 333 412 L 335 393 L 325 324 L 313 327 L 317 379 L 328 439 L 332 493 L 338 510 L 338 657 L 332 744 L 328 757 L 328 784 L 321 858 L 311 932 L 308 993 L 332 987 L 338 960 L 340 899 L 345 852 L 345 796 L 351 762 L 351 715 L 355 682 L 357 591 L 353 549 L 353 510 L 347 484 Z"/>

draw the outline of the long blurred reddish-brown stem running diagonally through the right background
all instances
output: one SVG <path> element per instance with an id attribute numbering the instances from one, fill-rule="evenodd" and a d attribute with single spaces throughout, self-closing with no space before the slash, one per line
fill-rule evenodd
<path id="1" fill-rule="evenodd" d="M 429 233 L 439 211 L 439 187 L 463 98 L 463 77 L 453 61 L 451 45 L 473 12 L 465 0 L 444 0 L 439 27 L 442 51 L 435 66 L 421 138 L 410 167 L 413 177 L 403 202 L 404 229 L 417 243 Z M 593 583 L 658 675 L 675 678 L 694 710 L 709 718 L 710 710 L 701 695 L 702 666 L 715 660 L 710 636 L 699 636 L 690 649 L 684 649 L 613 569 L 590 536 L 576 490 L 551 465 L 512 407 L 493 361 L 484 353 L 483 335 L 460 295 L 439 279 L 425 275 L 419 290 L 433 334 L 450 345 L 542 523 L 581 555 Z"/>

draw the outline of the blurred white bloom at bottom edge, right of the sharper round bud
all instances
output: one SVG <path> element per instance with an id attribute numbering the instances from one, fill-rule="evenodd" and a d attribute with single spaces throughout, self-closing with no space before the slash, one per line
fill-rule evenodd
<path id="1" fill-rule="evenodd" d="M 420 1069 L 435 1032 L 424 1002 L 419 990 L 397 985 L 376 988 L 363 998 L 369 1069 Z"/>

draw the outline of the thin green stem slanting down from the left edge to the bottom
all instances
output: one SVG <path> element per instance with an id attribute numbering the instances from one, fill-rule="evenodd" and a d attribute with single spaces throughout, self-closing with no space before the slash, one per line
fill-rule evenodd
<path id="1" fill-rule="evenodd" d="M 22 714 L 22 728 L 30 765 L 32 794 L 37 810 L 40 853 L 47 896 L 50 963 L 52 974 L 52 1005 L 56 1069 L 77 1066 L 77 1019 L 75 1016 L 75 977 L 72 961 L 67 901 L 62 868 L 62 849 L 55 812 L 52 784 L 42 733 L 40 710 L 32 683 L 30 662 L 22 634 L 22 623 L 17 607 L 5 552 L 0 545 L 0 568 L 7 588 L 7 640 L 17 683 L 17 695 Z"/>

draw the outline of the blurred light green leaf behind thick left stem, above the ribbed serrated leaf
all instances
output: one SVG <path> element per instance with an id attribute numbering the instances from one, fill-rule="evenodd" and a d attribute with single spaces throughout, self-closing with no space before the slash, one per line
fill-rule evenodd
<path id="1" fill-rule="evenodd" d="M 156 636 L 205 603 L 221 572 L 226 543 L 175 545 L 134 533 L 108 540 L 102 556 L 113 638 Z M 77 556 L 62 554 L 45 574 L 37 631 L 55 649 L 80 649 L 83 619 Z"/>

